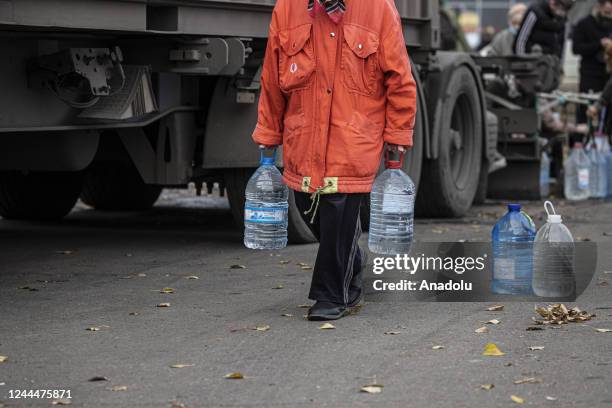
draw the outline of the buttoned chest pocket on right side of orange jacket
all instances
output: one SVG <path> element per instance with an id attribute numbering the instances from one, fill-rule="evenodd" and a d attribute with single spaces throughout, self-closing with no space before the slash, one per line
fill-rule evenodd
<path id="1" fill-rule="evenodd" d="M 343 27 L 342 73 L 347 89 L 364 95 L 376 90 L 378 35 L 358 25 Z"/>

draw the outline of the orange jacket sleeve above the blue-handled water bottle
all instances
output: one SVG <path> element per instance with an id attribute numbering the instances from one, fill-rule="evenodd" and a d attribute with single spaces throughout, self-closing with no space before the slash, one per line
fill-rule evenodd
<path id="1" fill-rule="evenodd" d="M 285 115 L 285 96 L 278 83 L 279 40 L 275 15 L 272 16 L 268 45 L 261 73 L 261 93 L 257 114 L 257 126 L 253 140 L 257 144 L 278 146 L 283 143 L 283 118 Z"/>

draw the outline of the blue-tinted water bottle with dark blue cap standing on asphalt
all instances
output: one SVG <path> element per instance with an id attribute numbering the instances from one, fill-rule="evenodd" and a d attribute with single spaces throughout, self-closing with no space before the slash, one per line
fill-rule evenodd
<path id="1" fill-rule="evenodd" d="M 532 293 L 532 251 L 535 234 L 535 224 L 521 211 L 521 205 L 509 204 L 508 213 L 493 227 L 493 293 Z"/>

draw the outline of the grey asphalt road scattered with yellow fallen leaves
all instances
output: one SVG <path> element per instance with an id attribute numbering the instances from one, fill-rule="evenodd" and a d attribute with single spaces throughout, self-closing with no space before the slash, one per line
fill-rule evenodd
<path id="1" fill-rule="evenodd" d="M 540 205 L 527 209 L 541 225 Z M 70 390 L 79 407 L 511 407 L 512 395 L 523 406 L 612 406 L 612 333 L 593 329 L 612 328 L 612 203 L 558 210 L 598 242 L 599 273 L 576 302 L 597 317 L 542 331 L 525 330 L 532 303 L 489 312 L 367 299 L 321 330 L 298 307 L 311 271 L 296 263 L 312 264 L 316 246 L 246 250 L 223 199 L 168 193 L 150 213 L 80 206 L 58 224 L 0 220 L 0 407 L 49 406 L 9 398 L 41 388 Z M 502 211 L 417 220 L 416 236 L 486 240 Z M 506 354 L 483 356 L 489 342 Z M 232 372 L 244 379 L 224 378 Z M 514 384 L 528 377 L 541 382 Z M 360 392 L 372 383 L 382 392 Z"/>

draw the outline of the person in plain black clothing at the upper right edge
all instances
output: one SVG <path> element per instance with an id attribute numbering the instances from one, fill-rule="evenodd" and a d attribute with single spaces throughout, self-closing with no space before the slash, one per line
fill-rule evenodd
<path id="1" fill-rule="evenodd" d="M 581 57 L 580 92 L 601 92 L 610 76 L 604 53 L 612 44 L 612 0 L 598 0 L 593 13 L 576 24 L 572 40 L 574 54 Z M 584 123 L 586 119 L 586 109 L 581 107 L 576 122 Z"/>

